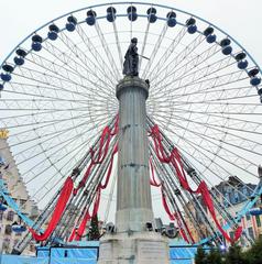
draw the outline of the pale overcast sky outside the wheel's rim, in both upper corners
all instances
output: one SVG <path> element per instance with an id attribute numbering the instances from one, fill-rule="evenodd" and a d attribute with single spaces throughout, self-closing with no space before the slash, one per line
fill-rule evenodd
<path id="1" fill-rule="evenodd" d="M 0 0 L 0 62 L 28 34 L 54 18 L 107 0 Z M 111 1 L 108 1 L 111 2 Z M 148 1 L 199 15 L 236 37 L 262 64 L 261 0 Z"/>

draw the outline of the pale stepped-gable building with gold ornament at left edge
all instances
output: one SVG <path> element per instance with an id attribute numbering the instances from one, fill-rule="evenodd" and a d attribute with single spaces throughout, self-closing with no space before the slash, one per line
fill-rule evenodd
<path id="1" fill-rule="evenodd" d="M 9 196 L 18 204 L 21 211 L 34 220 L 39 215 L 37 207 L 26 191 L 7 140 L 8 131 L 0 130 L 0 179 L 3 180 L 6 188 L 9 190 Z M 0 210 L 0 253 L 11 253 L 13 245 L 22 238 L 23 233 L 12 230 L 15 222 L 23 224 L 19 216 L 10 207 L 4 211 Z M 24 253 L 33 254 L 34 252 L 35 249 L 32 243 Z"/>

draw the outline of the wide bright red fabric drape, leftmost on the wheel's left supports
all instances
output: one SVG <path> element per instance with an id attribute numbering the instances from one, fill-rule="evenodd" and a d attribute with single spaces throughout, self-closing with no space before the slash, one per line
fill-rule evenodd
<path id="1" fill-rule="evenodd" d="M 68 177 L 64 184 L 62 191 L 61 191 L 59 198 L 56 202 L 56 207 L 52 215 L 48 227 L 46 228 L 46 230 L 43 234 L 37 234 L 33 229 L 30 229 L 30 232 L 32 233 L 33 238 L 36 241 L 44 241 L 44 240 L 48 239 L 50 235 L 52 234 L 52 232 L 55 230 L 55 228 L 56 228 L 57 223 L 59 222 L 61 217 L 65 210 L 67 201 L 70 198 L 73 187 L 74 187 L 73 179 L 70 177 Z"/>

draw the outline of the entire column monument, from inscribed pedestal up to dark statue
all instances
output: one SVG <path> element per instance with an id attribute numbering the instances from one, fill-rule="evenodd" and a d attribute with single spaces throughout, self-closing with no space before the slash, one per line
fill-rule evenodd
<path id="1" fill-rule="evenodd" d="M 124 56 L 117 86 L 119 152 L 116 228 L 100 240 L 99 264 L 167 264 L 167 239 L 154 231 L 150 189 L 145 101 L 149 84 L 139 78 L 138 40 Z"/>

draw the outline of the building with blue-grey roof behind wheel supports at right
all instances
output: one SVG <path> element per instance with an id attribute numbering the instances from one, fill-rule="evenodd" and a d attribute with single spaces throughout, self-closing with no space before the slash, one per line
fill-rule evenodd
<path id="1" fill-rule="evenodd" d="M 238 213 L 242 210 L 244 205 L 248 202 L 249 199 L 252 199 L 253 190 L 256 186 L 253 184 L 243 184 L 237 176 L 229 177 L 228 180 L 221 182 L 219 185 L 215 186 L 211 191 L 215 194 L 218 202 L 226 208 L 226 210 L 232 216 L 237 217 Z M 199 197 L 199 202 L 201 199 Z M 201 202 L 203 205 L 203 202 Z M 193 212 L 197 221 L 199 222 L 199 227 L 201 233 L 208 237 L 208 230 L 206 224 L 203 222 L 198 211 L 196 211 L 193 202 L 187 204 L 187 208 Z M 211 215 L 205 208 L 206 216 L 211 219 Z M 262 208 L 261 199 L 254 205 L 254 210 L 259 210 Z M 217 212 L 217 219 L 221 226 L 226 224 L 223 218 Z M 187 226 L 190 230 L 190 233 L 195 241 L 200 241 L 201 238 L 199 237 L 199 232 L 196 230 L 195 224 L 189 220 L 186 219 Z M 214 222 L 214 221 L 212 221 Z M 248 212 L 242 219 L 239 221 L 239 224 L 243 228 L 243 234 L 240 239 L 241 246 L 249 246 L 250 242 L 255 240 L 259 235 L 262 235 L 262 215 L 252 216 Z M 216 227 L 214 222 L 214 227 Z M 233 231 L 228 230 L 228 234 L 231 239 L 233 239 Z M 229 243 L 226 241 L 229 245 Z"/>

